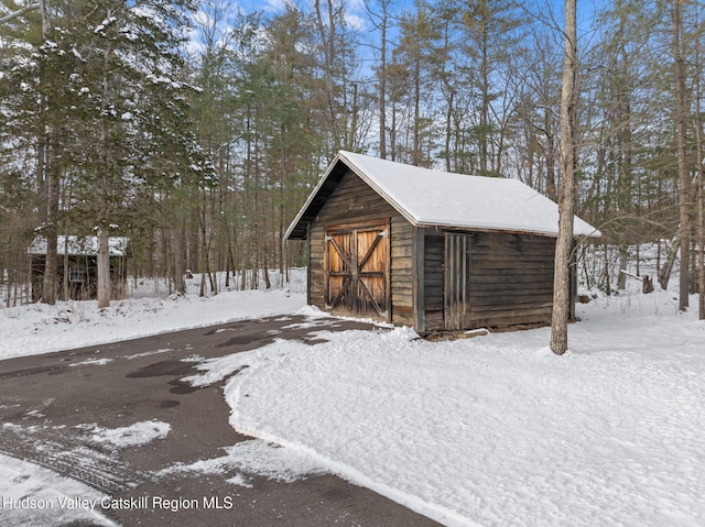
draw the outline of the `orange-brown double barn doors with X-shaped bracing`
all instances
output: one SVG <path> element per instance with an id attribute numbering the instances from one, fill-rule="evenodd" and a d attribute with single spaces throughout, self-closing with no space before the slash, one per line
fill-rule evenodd
<path id="1" fill-rule="evenodd" d="M 326 309 L 388 319 L 389 224 L 326 232 Z"/>

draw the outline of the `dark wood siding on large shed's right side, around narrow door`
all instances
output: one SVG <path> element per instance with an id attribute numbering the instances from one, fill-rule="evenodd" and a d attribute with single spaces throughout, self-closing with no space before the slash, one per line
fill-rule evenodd
<path id="1" fill-rule="evenodd" d="M 553 304 L 555 239 L 469 232 L 469 328 L 549 323 Z M 441 265 L 438 265 L 438 262 Z M 445 240 L 425 238 L 426 330 L 444 329 Z"/>

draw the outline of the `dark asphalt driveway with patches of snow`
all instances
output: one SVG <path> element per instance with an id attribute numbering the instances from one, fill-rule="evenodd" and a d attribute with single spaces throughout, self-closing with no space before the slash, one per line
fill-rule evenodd
<path id="1" fill-rule="evenodd" d="M 369 328 L 324 320 L 326 330 Z M 193 388 L 181 381 L 196 373 L 197 361 L 252 350 L 274 338 L 313 343 L 312 333 L 322 327 L 304 322 L 299 316 L 238 321 L 0 361 L 0 451 L 131 504 L 104 510 L 124 527 L 438 525 L 333 474 L 286 483 L 251 473 L 247 486 L 234 479 L 241 470 L 165 470 L 221 458 L 224 449 L 252 439 L 229 426 L 221 384 Z M 150 420 L 167 422 L 166 437 L 115 448 L 88 432 Z M 155 496 L 202 506 L 155 507 Z M 11 512 L 3 518 L 11 523 Z"/>

